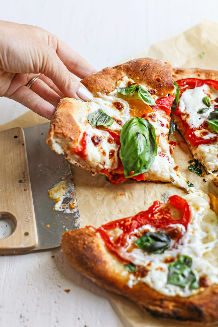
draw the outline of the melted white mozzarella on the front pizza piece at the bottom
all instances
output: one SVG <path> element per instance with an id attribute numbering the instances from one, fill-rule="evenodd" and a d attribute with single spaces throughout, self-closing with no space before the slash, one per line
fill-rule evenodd
<path id="1" fill-rule="evenodd" d="M 171 245 L 162 254 L 149 254 L 138 248 L 123 254 L 133 264 L 145 266 L 149 270 L 147 276 L 143 278 L 137 278 L 131 274 L 128 282 L 129 287 L 143 281 L 165 295 L 186 297 L 197 292 L 191 290 L 188 285 L 182 288 L 167 284 L 169 264 L 166 263 L 166 259 L 173 257 L 176 261 L 180 255 L 188 255 L 192 258 L 192 270 L 197 280 L 199 277 L 207 275 L 211 284 L 218 284 L 218 217 L 210 210 L 210 199 L 203 192 L 195 192 L 184 198 L 191 205 L 192 220 L 188 224 L 187 231 L 178 224 L 178 227 L 182 228 L 182 237 L 177 247 L 173 248 Z M 141 228 L 141 230 L 143 229 L 155 231 L 154 227 L 150 225 Z M 141 232 L 141 230 L 135 232 Z M 135 241 L 134 237 L 131 241 Z"/>

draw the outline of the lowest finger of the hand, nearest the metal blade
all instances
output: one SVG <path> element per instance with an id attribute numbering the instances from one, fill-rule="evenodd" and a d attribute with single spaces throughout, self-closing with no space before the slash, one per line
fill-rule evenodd
<path id="1" fill-rule="evenodd" d="M 26 86 L 20 87 L 9 98 L 23 104 L 25 107 L 49 120 L 51 120 L 56 109 L 55 106 L 42 99 L 38 94 L 28 89 Z"/>

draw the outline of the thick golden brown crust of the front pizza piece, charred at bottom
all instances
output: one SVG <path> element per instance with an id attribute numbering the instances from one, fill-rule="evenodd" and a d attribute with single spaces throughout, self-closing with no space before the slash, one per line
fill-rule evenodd
<path id="1" fill-rule="evenodd" d="M 201 287 L 191 297 L 160 294 L 143 282 L 130 288 L 124 263 L 111 254 L 100 235 L 88 228 L 62 235 L 61 248 L 71 266 L 109 291 L 126 296 L 156 317 L 192 325 L 210 325 L 218 320 L 218 285 Z"/>

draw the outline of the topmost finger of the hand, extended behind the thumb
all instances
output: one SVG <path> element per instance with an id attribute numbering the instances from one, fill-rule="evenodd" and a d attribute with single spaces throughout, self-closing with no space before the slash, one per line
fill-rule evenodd
<path id="1" fill-rule="evenodd" d="M 57 48 L 55 49 L 60 60 L 65 64 L 69 71 L 80 78 L 85 78 L 90 74 L 96 73 L 84 58 L 72 50 L 69 46 L 57 38 Z"/>

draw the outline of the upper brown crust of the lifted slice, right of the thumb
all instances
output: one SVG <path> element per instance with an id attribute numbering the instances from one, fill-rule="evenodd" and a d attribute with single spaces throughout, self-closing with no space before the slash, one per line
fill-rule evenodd
<path id="1" fill-rule="evenodd" d="M 93 95 L 98 92 L 108 94 L 115 89 L 116 82 L 123 76 L 155 89 L 157 96 L 171 94 L 174 91 L 171 65 L 151 58 L 134 59 L 115 67 L 107 67 L 82 79 L 81 83 Z"/>

